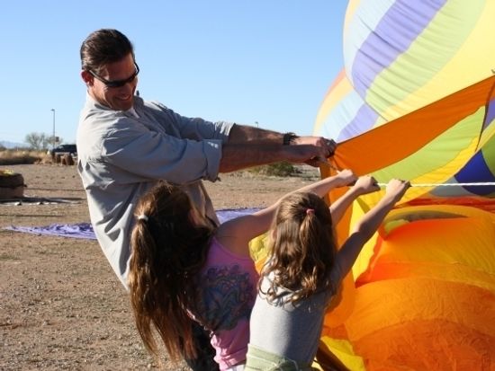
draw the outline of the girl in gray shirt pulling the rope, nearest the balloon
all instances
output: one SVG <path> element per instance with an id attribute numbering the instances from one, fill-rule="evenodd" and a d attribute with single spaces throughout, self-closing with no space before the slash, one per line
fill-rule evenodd
<path id="1" fill-rule="evenodd" d="M 366 181 L 374 180 L 360 178 L 356 186 Z M 311 370 L 330 299 L 364 244 L 409 187 L 408 181 L 390 181 L 383 199 L 363 216 L 339 250 L 335 213 L 318 195 L 297 192 L 280 202 L 270 231 L 270 256 L 251 313 L 245 370 Z"/>

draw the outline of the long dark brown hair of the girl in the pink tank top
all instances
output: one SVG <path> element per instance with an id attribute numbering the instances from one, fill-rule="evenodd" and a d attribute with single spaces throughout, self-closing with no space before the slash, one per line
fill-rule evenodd
<path id="1" fill-rule="evenodd" d="M 156 358 L 154 330 L 172 360 L 194 358 L 194 279 L 206 260 L 213 226 L 198 226 L 183 190 L 160 182 L 139 200 L 131 234 L 130 303 L 139 335 Z"/>

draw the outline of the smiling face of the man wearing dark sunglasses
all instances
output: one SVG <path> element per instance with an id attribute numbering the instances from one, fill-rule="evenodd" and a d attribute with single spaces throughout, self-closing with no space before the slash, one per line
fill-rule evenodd
<path id="1" fill-rule="evenodd" d="M 81 76 L 88 93 L 97 102 L 112 110 L 129 110 L 134 104 L 134 91 L 138 85 L 137 72 L 134 58 L 129 54 L 119 62 L 103 66 L 97 75 L 94 71 L 82 71 Z M 119 82 L 121 86 L 112 86 L 112 83 Z"/>

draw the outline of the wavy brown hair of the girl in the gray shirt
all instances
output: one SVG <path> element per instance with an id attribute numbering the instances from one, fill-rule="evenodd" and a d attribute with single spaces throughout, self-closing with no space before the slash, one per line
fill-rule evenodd
<path id="1" fill-rule="evenodd" d="M 270 258 L 262 270 L 262 276 L 274 273 L 270 286 L 262 291 L 269 301 L 278 297 L 275 287 L 293 290 L 293 304 L 322 290 L 335 292 L 330 272 L 337 245 L 323 199 L 306 192 L 285 197 L 275 213 L 272 232 Z"/>

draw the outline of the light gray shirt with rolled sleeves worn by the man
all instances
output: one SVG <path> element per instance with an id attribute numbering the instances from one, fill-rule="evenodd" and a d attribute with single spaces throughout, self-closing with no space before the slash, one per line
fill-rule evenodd
<path id="1" fill-rule="evenodd" d="M 139 97 L 134 112 L 112 110 L 87 95 L 77 128 L 77 170 L 96 238 L 125 287 L 133 210 L 157 181 L 183 185 L 197 208 L 218 221 L 202 180 L 218 179 L 232 125 L 185 118 Z"/>

